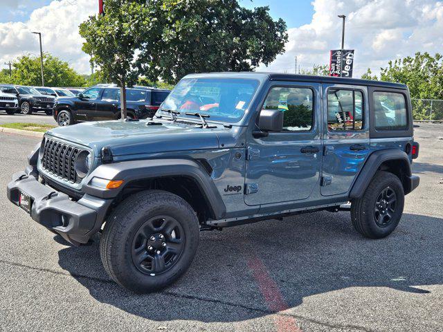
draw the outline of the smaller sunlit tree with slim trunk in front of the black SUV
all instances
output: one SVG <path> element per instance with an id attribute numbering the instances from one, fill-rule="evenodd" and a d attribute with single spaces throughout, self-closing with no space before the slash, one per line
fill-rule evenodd
<path id="1" fill-rule="evenodd" d="M 107 0 L 105 15 L 89 17 L 80 24 L 80 35 L 86 39 L 82 49 L 91 55 L 106 80 L 116 82 L 121 89 L 121 118 L 126 118 L 126 86 L 138 79 L 134 66 L 141 36 L 150 35 L 152 24 L 145 15 L 149 3 L 156 1 Z"/>

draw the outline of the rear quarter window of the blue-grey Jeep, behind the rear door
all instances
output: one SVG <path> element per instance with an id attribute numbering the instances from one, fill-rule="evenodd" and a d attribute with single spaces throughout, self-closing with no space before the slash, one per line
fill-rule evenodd
<path id="1" fill-rule="evenodd" d="M 374 92 L 375 129 L 401 130 L 408 128 L 406 99 L 401 93 Z"/>

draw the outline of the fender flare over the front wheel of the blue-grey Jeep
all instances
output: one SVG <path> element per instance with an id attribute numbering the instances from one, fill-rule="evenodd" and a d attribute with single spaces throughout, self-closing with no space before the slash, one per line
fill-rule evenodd
<path id="1" fill-rule="evenodd" d="M 197 183 L 215 218 L 222 219 L 225 216 L 226 206 L 221 199 L 213 179 L 210 178 L 206 169 L 195 160 L 177 158 L 147 159 L 103 164 L 87 176 L 82 186 L 82 192 L 102 199 L 113 199 L 118 196 L 125 188 L 125 185 L 129 183 L 168 176 L 185 176 L 191 178 Z M 90 183 L 93 177 L 105 178 L 107 180 L 123 180 L 124 183 L 117 189 L 106 190 L 92 186 Z"/>

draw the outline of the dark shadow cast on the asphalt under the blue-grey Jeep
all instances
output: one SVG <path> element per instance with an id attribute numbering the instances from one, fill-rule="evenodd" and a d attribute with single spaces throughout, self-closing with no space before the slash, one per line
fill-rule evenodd
<path id="1" fill-rule="evenodd" d="M 100 261 L 99 237 L 91 246 L 60 250 L 59 264 L 93 298 L 134 315 L 156 321 L 237 322 L 350 287 L 426 296 L 429 291 L 420 286 L 443 284 L 442 235 L 443 219 L 404 214 L 390 237 L 364 239 L 354 232 L 346 212 L 204 232 L 188 273 L 150 295 L 135 295 L 109 279 Z"/>

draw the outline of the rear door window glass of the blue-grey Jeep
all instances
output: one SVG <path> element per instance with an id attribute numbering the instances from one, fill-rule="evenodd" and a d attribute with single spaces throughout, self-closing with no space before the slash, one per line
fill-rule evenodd
<path id="1" fill-rule="evenodd" d="M 363 129 L 363 93 L 355 90 L 327 91 L 327 128 L 329 131 Z"/>

